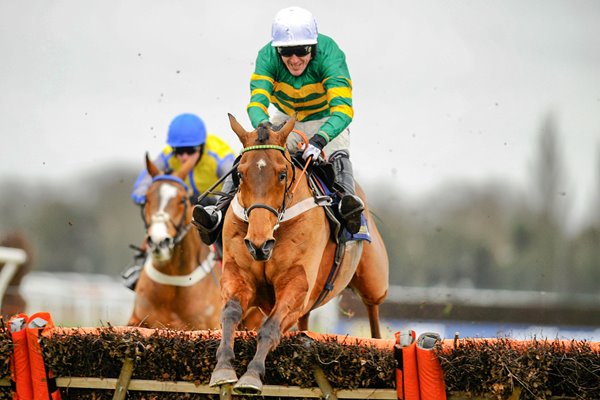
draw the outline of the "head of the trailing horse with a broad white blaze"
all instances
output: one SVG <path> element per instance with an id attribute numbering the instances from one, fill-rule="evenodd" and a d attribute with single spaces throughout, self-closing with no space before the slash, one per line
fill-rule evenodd
<path id="1" fill-rule="evenodd" d="M 184 180 L 197 160 L 198 155 L 192 156 L 178 171 L 167 175 L 146 153 L 146 169 L 152 176 L 152 184 L 146 192 L 143 218 L 148 249 L 156 262 L 170 260 L 173 248 L 190 229 L 191 207 Z"/>

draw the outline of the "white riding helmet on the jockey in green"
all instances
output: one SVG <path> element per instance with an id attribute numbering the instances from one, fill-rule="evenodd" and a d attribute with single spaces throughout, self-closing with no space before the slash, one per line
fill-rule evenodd
<path id="1" fill-rule="evenodd" d="M 273 19 L 271 46 L 302 46 L 317 44 L 317 21 L 310 11 L 300 7 L 288 7 L 279 11 Z"/>

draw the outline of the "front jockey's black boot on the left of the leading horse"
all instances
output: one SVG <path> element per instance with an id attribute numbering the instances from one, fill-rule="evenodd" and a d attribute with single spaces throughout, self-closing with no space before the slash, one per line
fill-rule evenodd
<path id="1" fill-rule="evenodd" d="M 233 195 L 237 191 L 237 185 L 231 175 L 223 182 L 223 195 L 219 196 L 214 206 L 194 206 L 192 224 L 198 229 L 200 239 L 206 245 L 213 244 L 223 228 L 223 215 L 231 203 Z"/>

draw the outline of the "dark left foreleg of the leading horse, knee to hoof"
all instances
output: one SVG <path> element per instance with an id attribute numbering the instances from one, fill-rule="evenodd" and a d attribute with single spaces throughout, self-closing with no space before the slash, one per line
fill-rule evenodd
<path id="1" fill-rule="evenodd" d="M 242 306 L 237 300 L 227 300 L 221 313 L 221 343 L 217 349 L 217 365 L 210 377 L 210 386 L 220 386 L 237 381 L 232 361 L 235 328 L 242 320 Z"/>

